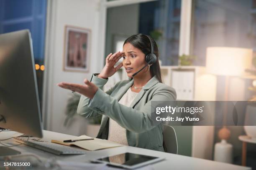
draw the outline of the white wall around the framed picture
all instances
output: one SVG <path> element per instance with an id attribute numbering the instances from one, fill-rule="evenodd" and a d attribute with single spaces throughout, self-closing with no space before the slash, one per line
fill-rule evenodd
<path id="1" fill-rule="evenodd" d="M 87 123 L 84 118 L 75 117 L 77 121 L 71 127 L 63 126 L 67 99 L 72 93 L 57 87 L 56 84 L 62 81 L 82 83 L 84 78 L 90 80 L 92 73 L 101 70 L 104 56 L 99 55 L 97 46 L 100 39 L 100 0 L 49 0 L 47 15 L 46 72 L 43 96 L 44 129 L 80 135 L 86 131 Z M 63 71 L 65 25 L 87 28 L 92 32 L 88 73 Z"/>

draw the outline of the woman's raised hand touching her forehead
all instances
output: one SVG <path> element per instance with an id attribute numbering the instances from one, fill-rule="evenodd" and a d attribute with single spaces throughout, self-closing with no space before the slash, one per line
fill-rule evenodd
<path id="1" fill-rule="evenodd" d="M 115 54 L 110 53 L 106 58 L 106 65 L 101 70 L 98 77 L 107 79 L 108 77 L 111 77 L 117 70 L 119 70 L 123 63 L 121 62 L 118 66 L 114 67 L 115 63 L 120 60 L 121 57 L 123 57 L 123 52 L 116 52 Z"/>

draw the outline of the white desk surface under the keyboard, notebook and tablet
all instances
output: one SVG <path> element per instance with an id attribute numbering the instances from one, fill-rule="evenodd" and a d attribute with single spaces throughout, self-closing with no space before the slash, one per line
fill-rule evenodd
<path id="1" fill-rule="evenodd" d="M 0 139 L 10 138 L 15 132 L 1 132 L 0 133 Z M 51 139 L 56 138 L 58 136 L 59 138 L 72 138 L 74 136 L 72 135 L 66 135 L 51 131 L 44 130 L 44 138 L 43 140 L 51 141 Z M 5 143 L 15 143 L 13 140 L 6 140 Z M 1 145 L 1 144 L 0 144 Z M 35 155 L 38 155 L 41 158 L 50 158 L 55 157 L 57 160 L 67 160 L 67 161 L 73 161 L 73 162 L 89 162 L 89 160 L 93 160 L 100 157 L 105 156 L 112 156 L 120 153 L 125 152 L 131 152 L 131 153 L 138 153 L 138 154 L 144 154 L 144 155 L 151 155 L 151 156 L 159 156 L 159 157 L 165 157 L 166 160 L 161 161 L 159 163 L 155 163 L 153 165 L 154 169 L 174 169 L 174 170 L 201 170 L 201 169 L 207 169 L 207 170 L 216 170 L 216 169 L 225 169 L 225 170 L 251 170 L 251 168 L 248 167 L 242 167 L 238 165 L 232 165 L 228 163 L 220 163 L 212 160 L 204 160 L 200 158 L 192 158 L 188 156 L 183 155 L 176 155 L 171 153 L 163 153 L 159 151 L 154 150 L 148 150 L 148 149 L 142 149 L 142 148 L 136 148 L 131 146 L 122 146 L 117 148 L 109 148 L 104 150 L 97 150 L 97 151 L 87 151 L 86 155 L 72 155 L 72 156 L 57 156 L 51 153 L 46 153 L 44 151 L 28 147 L 26 145 L 19 145 L 13 147 L 15 150 L 19 150 L 22 154 L 25 153 L 33 153 Z"/>

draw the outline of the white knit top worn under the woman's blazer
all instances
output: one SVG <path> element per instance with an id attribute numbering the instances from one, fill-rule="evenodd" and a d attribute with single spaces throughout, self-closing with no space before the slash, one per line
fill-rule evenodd
<path id="1" fill-rule="evenodd" d="M 125 106 L 130 106 L 138 92 L 133 92 L 131 88 L 125 92 L 119 103 Z M 128 145 L 126 138 L 126 129 L 121 127 L 117 122 L 109 119 L 108 140 L 122 145 Z"/>

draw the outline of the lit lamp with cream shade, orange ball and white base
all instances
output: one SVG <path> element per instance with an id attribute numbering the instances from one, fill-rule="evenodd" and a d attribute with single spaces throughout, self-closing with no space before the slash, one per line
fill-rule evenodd
<path id="1" fill-rule="evenodd" d="M 207 73 L 213 75 L 225 76 L 225 101 L 228 100 L 230 76 L 246 74 L 245 70 L 251 68 L 252 52 L 252 49 L 246 48 L 207 47 L 206 70 Z M 223 124 L 226 122 L 225 112 L 223 114 Z M 221 142 L 215 144 L 214 160 L 232 163 L 233 146 L 227 143 L 230 138 L 230 130 L 223 125 L 223 128 L 218 132 L 218 137 Z"/>

